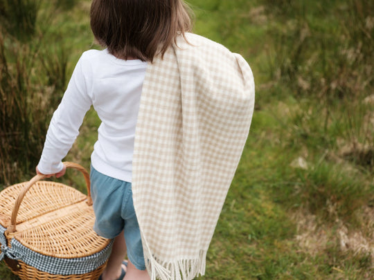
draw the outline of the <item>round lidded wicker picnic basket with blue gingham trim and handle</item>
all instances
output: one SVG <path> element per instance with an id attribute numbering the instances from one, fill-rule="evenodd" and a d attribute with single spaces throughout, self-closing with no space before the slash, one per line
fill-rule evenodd
<path id="1" fill-rule="evenodd" d="M 92 230 L 88 172 L 64 165 L 82 172 L 87 196 L 40 175 L 0 192 L 0 260 L 22 280 L 96 280 L 112 250 L 112 241 Z"/>

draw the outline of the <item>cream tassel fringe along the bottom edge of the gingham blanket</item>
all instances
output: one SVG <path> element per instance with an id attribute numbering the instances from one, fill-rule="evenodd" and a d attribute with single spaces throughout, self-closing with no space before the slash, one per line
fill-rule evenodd
<path id="1" fill-rule="evenodd" d="M 145 260 L 151 280 L 191 280 L 199 274 L 205 274 L 206 250 L 201 250 L 197 259 L 179 259 L 170 262 L 160 261 L 154 255 L 146 254 Z"/>

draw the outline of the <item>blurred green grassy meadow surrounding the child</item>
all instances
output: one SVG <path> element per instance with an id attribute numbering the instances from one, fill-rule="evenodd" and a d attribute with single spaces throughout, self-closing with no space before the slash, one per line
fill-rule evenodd
<path id="1" fill-rule="evenodd" d="M 198 279 L 374 279 L 374 1 L 188 3 L 193 31 L 242 54 L 256 82 Z M 35 174 L 75 63 L 98 48 L 89 6 L 0 0 L 0 190 Z M 98 124 L 89 111 L 66 160 L 89 168 Z M 58 180 L 84 192 L 75 171 Z M 1 263 L 0 279 L 17 277 Z"/>

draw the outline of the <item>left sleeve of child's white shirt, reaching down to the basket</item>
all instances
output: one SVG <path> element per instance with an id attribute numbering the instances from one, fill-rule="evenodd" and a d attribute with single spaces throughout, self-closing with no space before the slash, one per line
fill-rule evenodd
<path id="1" fill-rule="evenodd" d="M 38 169 L 42 174 L 55 174 L 62 170 L 62 159 L 71 149 L 79 134 L 84 115 L 91 107 L 89 97 L 89 69 L 80 57 L 60 105 L 49 124 Z"/>

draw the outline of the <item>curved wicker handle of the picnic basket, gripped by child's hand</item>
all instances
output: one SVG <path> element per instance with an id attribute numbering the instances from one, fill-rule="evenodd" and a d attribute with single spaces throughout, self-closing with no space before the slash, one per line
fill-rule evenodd
<path id="1" fill-rule="evenodd" d="M 84 180 L 86 180 L 86 185 L 87 185 L 87 204 L 92 205 L 91 187 L 90 187 L 90 181 L 89 181 L 89 173 L 87 172 L 87 170 L 84 169 L 84 167 L 82 167 L 81 165 L 78 165 L 77 163 L 63 162 L 63 164 L 66 166 L 66 168 L 73 168 L 73 169 L 77 169 L 80 172 L 82 172 L 84 176 Z M 8 227 L 7 232 L 16 231 L 17 214 L 18 214 L 19 207 L 21 206 L 21 202 L 24 199 L 24 196 L 26 195 L 30 187 L 32 187 L 35 183 L 37 183 L 37 181 L 42 180 L 43 178 L 46 178 L 46 176 L 37 174 L 31 180 L 29 180 L 28 183 L 26 183 L 25 187 L 21 190 L 21 192 L 19 193 L 17 197 L 17 200 L 15 201 L 15 206 L 13 207 L 12 216 L 10 218 L 10 226 Z"/>

